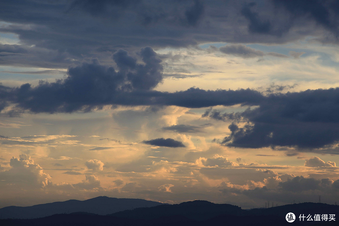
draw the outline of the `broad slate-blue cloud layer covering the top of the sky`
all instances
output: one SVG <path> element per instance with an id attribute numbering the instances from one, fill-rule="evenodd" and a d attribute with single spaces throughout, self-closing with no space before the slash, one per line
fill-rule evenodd
<path id="1" fill-rule="evenodd" d="M 18 35 L 21 45 L 1 45 L 0 62 L 67 68 L 84 58 L 110 63 L 107 54 L 120 48 L 284 43 L 307 35 L 325 40 L 324 29 L 337 34 L 338 5 L 320 0 L 223 4 L 216 0 L 4 0 L 0 21 L 6 23 L 0 32 Z"/>

